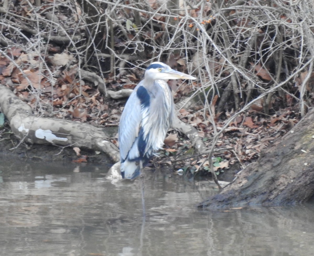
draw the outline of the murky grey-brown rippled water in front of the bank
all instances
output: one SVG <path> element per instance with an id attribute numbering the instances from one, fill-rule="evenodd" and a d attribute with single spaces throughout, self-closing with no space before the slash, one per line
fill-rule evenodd
<path id="1" fill-rule="evenodd" d="M 314 254 L 311 205 L 198 211 L 199 183 L 148 172 L 144 218 L 139 180 L 113 183 L 106 166 L 0 163 L 0 255 Z"/>

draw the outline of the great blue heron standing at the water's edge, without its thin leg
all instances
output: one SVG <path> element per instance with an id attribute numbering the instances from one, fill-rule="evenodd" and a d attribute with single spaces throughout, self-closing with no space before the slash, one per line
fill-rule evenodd
<path id="1" fill-rule="evenodd" d="M 176 118 L 167 81 L 178 78 L 196 79 L 162 62 L 153 62 L 127 100 L 119 124 L 122 178 L 136 178 L 153 153 L 162 148 Z"/>

